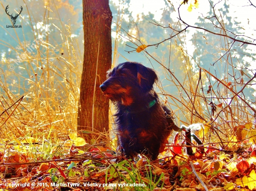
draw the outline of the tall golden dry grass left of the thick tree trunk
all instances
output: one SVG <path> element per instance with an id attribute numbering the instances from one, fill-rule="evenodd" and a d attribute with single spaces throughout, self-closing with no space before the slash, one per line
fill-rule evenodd
<path id="1" fill-rule="evenodd" d="M 51 9 L 55 8 L 52 5 Z M 50 20 L 49 10 L 48 5 L 42 8 L 46 13 L 42 22 L 33 23 L 20 17 L 23 28 L 30 27 L 31 32 L 12 29 L 19 34 L 12 37 L 18 45 L 1 40 L 12 57 L 6 56 L 1 61 L 7 66 L 0 69 L 1 144 L 45 144 L 44 139 L 60 144 L 68 133 L 76 131 L 83 59 L 81 42 L 72 36 L 71 25 Z M 28 11 L 33 19 L 33 13 Z M 10 37 L 10 31 L 6 32 Z M 27 40 L 30 37 L 33 38 Z"/>

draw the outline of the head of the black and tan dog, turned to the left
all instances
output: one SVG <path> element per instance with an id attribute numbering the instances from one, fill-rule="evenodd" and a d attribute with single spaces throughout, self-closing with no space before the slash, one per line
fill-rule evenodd
<path id="1" fill-rule="evenodd" d="M 118 64 L 108 70 L 107 80 L 100 85 L 103 94 L 110 100 L 130 105 L 135 97 L 145 95 L 158 80 L 154 70 L 136 62 Z"/>

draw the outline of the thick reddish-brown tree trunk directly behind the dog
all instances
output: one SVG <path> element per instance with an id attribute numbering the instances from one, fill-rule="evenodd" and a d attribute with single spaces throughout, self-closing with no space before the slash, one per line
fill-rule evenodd
<path id="1" fill-rule="evenodd" d="M 106 71 L 111 68 L 111 22 L 108 0 L 83 0 L 84 61 L 78 130 L 108 131 L 109 100 L 103 96 L 99 86 L 106 79 Z"/>

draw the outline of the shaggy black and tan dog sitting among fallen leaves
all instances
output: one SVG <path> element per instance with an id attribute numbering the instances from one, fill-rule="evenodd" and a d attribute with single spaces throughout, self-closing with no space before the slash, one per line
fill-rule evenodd
<path id="1" fill-rule="evenodd" d="M 172 129 L 178 127 L 153 89 L 158 80 L 155 71 L 140 63 L 125 62 L 109 70 L 107 78 L 100 88 L 117 108 L 117 134 L 126 157 L 142 153 L 157 159 Z"/>

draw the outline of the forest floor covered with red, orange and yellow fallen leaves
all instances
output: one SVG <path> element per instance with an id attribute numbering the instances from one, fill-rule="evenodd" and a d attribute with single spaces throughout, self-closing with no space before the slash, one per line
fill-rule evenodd
<path id="1" fill-rule="evenodd" d="M 195 146 L 188 156 L 186 145 L 174 143 L 162 159 L 131 161 L 76 134 L 59 146 L 14 142 L 1 148 L 0 191 L 256 190 L 256 150 L 245 144 L 236 144 L 236 150 Z"/>

